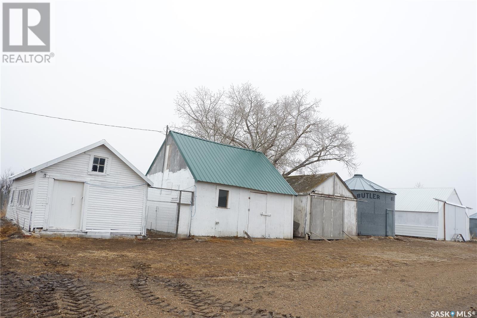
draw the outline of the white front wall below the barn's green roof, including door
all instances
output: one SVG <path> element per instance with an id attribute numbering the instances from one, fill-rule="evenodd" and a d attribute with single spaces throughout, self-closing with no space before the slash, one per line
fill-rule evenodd
<path id="1" fill-rule="evenodd" d="M 255 238 L 292 238 L 292 196 L 201 181 L 196 184 L 190 235 L 246 236 L 245 231 Z M 219 193 L 224 191 L 227 201 L 221 204 Z"/>

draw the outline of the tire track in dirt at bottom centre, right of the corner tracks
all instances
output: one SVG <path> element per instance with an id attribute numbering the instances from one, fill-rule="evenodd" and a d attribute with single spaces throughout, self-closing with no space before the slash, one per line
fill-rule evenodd
<path id="1" fill-rule="evenodd" d="M 178 317 L 192 318 L 213 318 L 213 317 L 253 317 L 253 318 L 300 318 L 291 314 L 281 314 L 275 311 L 265 309 L 254 309 L 241 304 L 234 304 L 230 301 L 221 300 L 218 297 L 208 294 L 199 289 L 193 289 L 192 286 L 173 281 L 168 278 L 145 275 L 144 269 L 150 266 L 134 266 L 141 269 L 139 275 L 131 284 L 136 294 L 143 300 L 153 306 L 159 307 L 162 311 Z M 149 286 L 148 282 L 159 283 L 161 286 L 172 291 L 173 294 L 182 298 L 189 305 L 187 309 L 178 308 L 171 305 L 166 298 L 158 297 Z"/>

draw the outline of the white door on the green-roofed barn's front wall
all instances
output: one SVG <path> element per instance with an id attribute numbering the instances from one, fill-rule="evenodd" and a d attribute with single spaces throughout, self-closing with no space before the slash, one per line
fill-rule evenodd
<path id="1" fill-rule="evenodd" d="M 267 214 L 267 194 L 250 192 L 247 233 L 251 237 L 265 237 L 267 217 L 270 217 Z"/>

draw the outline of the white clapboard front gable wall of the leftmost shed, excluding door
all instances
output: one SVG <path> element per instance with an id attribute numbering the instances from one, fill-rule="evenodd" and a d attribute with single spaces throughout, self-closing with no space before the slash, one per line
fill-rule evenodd
<path id="1" fill-rule="evenodd" d="M 107 175 L 88 174 L 91 153 L 109 158 Z M 49 179 L 51 175 L 61 175 L 89 180 L 83 212 L 87 231 L 142 232 L 146 182 L 106 146 L 64 159 L 37 173 L 39 183 L 33 227 L 44 227 L 48 195 L 51 195 L 48 192 Z M 43 176 L 45 173 L 47 177 Z"/>

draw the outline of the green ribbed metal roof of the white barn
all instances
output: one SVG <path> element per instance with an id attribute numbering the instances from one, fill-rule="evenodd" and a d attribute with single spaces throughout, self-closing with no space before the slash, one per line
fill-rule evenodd
<path id="1" fill-rule="evenodd" d="M 170 136 L 197 181 L 296 195 L 280 172 L 259 151 L 176 131 L 171 131 Z"/>

